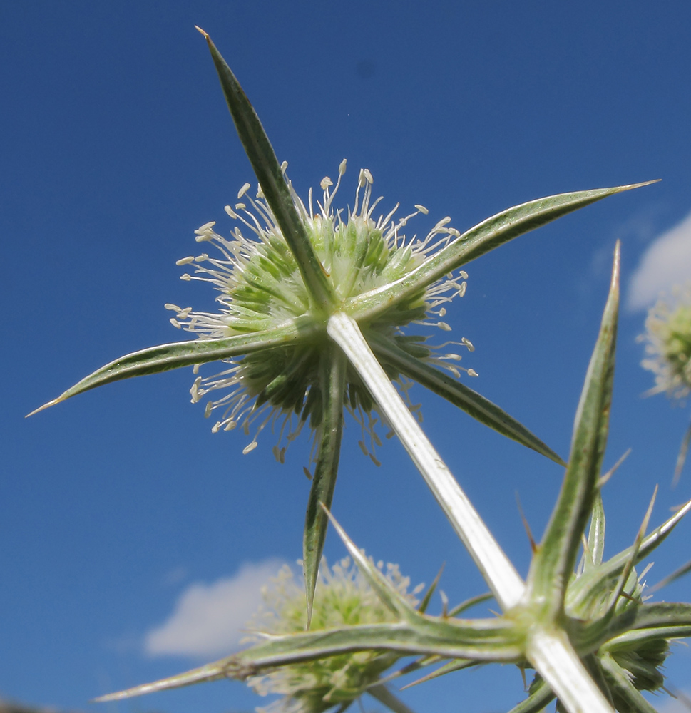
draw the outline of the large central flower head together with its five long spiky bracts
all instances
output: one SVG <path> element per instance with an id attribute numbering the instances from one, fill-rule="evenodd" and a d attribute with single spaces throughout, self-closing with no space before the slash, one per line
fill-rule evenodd
<path id="1" fill-rule="evenodd" d="M 252 419 L 261 418 L 262 408 L 266 414 L 259 429 L 280 414 L 299 414 L 294 430 L 285 420 L 282 422 L 280 436 L 287 427 L 287 438 L 294 436 L 306 420 L 311 421 L 315 429 L 314 468 L 313 476 L 307 473 L 312 477 L 312 489 L 303 538 L 309 600 L 327 528 L 320 503 L 327 508 L 332 504 L 344 407 L 358 414 L 363 428 L 369 431 L 369 444 L 361 441 L 363 450 L 374 457 L 378 444 L 369 414 L 375 404 L 377 409 L 382 404 L 372 397 L 372 384 L 363 385 L 367 374 L 362 366 L 355 366 L 356 361 L 362 364 L 356 352 L 360 356 L 374 352 L 384 378 L 389 376 L 399 383 L 404 379 L 417 381 L 499 433 L 563 463 L 516 419 L 454 379 L 453 357 L 434 354 L 426 344 L 426 335 L 404 335 L 400 330 L 411 322 L 446 328 L 441 321 L 444 304 L 463 291 L 465 272 L 461 267 L 466 262 L 523 232 L 633 186 L 540 198 L 504 210 L 463 234 L 447 228 L 444 219 L 421 242 L 399 235 L 407 218 L 394 221 L 393 212 L 376 221 L 372 218 L 376 202 L 371 202 L 372 177 L 366 170 L 358 180 L 358 192 L 364 189 L 362 202 L 358 197 L 348 215 L 332 209 L 335 190 L 329 191 L 330 179 L 322 180 L 324 197 L 314 210 L 311 195 L 305 205 L 286 183 L 254 108 L 208 35 L 203 34 L 260 185 L 259 197 L 252 200 L 254 212 L 247 211 L 241 202 L 230 208 L 230 215 L 245 220 L 245 227 L 255 235 L 250 240 L 236 229 L 228 240 L 217 235 L 212 224 L 206 224 L 198 230 L 198 237 L 202 242 L 215 242 L 221 257 L 203 254 L 180 261 L 195 263 L 205 272 L 194 277 L 210 279 L 221 290 L 218 314 L 193 313 L 191 308 L 169 305 L 176 314 L 173 324 L 185 325 L 200 339 L 150 347 L 116 359 L 41 408 L 130 376 L 180 366 L 198 369 L 208 361 L 244 356 L 242 361 L 229 364 L 225 373 L 208 380 L 198 377 L 193 399 L 226 389 L 207 406 L 208 414 L 222 409 L 217 429 L 230 429 L 235 424 L 249 428 Z M 344 168 L 344 164 L 339 168 L 339 179 Z M 247 189 L 247 185 L 242 188 L 240 198 Z M 424 212 L 422 207 L 416 210 Z M 350 350 L 346 356 L 346 346 L 351 343 L 355 352 Z M 465 346 L 471 347 L 468 342 Z M 452 374 L 437 368 L 440 364 L 447 371 L 451 368 Z M 400 436 L 400 429 L 388 416 L 387 421 Z M 252 439 L 245 450 L 254 448 L 255 443 Z M 275 455 L 279 460 L 284 458 L 279 445 Z M 439 460 L 431 451 L 429 456 L 430 463 Z M 450 473 L 444 477 L 448 480 Z M 436 486 L 433 491 L 437 493 Z M 465 525 L 454 526 L 458 529 Z"/>

